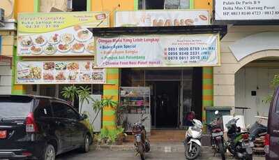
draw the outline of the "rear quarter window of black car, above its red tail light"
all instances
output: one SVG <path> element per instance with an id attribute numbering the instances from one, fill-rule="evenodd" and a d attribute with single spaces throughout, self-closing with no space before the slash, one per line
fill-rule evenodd
<path id="1" fill-rule="evenodd" d="M 38 106 L 34 112 L 35 117 L 52 117 L 52 110 L 50 108 L 50 101 L 48 99 L 36 100 Z"/>

